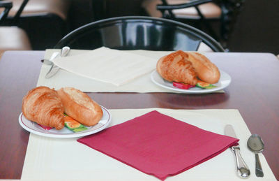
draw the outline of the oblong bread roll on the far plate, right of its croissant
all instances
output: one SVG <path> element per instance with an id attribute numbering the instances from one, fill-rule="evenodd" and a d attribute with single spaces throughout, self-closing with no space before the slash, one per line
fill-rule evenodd
<path id="1" fill-rule="evenodd" d="M 192 62 L 200 80 L 209 84 L 218 82 L 220 71 L 215 64 L 198 52 L 187 52 L 187 54 L 189 55 L 188 61 Z"/>

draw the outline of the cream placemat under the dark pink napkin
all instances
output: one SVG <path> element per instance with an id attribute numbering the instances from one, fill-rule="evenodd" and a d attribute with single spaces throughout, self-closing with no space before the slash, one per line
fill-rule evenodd
<path id="1" fill-rule="evenodd" d="M 255 176 L 255 154 L 246 146 L 250 131 L 238 110 L 170 110 L 162 108 L 110 110 L 110 126 L 158 110 L 199 128 L 224 134 L 232 124 L 240 139 L 241 154 L 250 168 L 248 180 L 276 180 L 263 154 L 259 154 L 264 178 Z M 78 143 L 77 138 L 46 138 L 31 133 L 22 170 L 22 180 L 158 180 Z M 214 145 L 212 145 L 214 146 Z M 166 180 L 243 180 L 236 175 L 231 150 Z"/>

